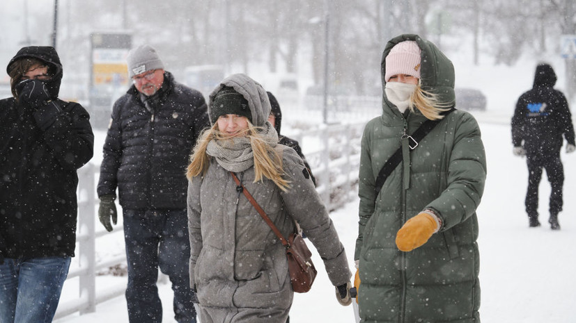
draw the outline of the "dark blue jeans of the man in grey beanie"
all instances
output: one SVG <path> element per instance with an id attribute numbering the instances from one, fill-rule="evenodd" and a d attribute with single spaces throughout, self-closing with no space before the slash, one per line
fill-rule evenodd
<path id="1" fill-rule="evenodd" d="M 126 301 L 131 323 L 162 322 L 156 281 L 158 267 L 169 276 L 174 291 L 174 318 L 195 323 L 190 288 L 188 216 L 186 210 L 124 210 L 128 263 Z"/>

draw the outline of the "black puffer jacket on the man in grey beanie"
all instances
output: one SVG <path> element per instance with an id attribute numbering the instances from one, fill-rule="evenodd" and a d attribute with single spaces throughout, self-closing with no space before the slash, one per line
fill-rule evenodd
<path id="1" fill-rule="evenodd" d="M 208 113 L 202 94 L 164 73 L 150 112 L 132 85 L 114 103 L 104 142 L 98 196 L 116 195 L 125 209 L 185 209 L 188 156 Z"/>

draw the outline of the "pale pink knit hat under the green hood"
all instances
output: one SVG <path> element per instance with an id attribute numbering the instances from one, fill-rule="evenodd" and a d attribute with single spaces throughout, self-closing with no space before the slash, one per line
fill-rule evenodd
<path id="1" fill-rule="evenodd" d="M 386 74 L 384 81 L 396 74 L 406 74 L 420 78 L 421 49 L 414 40 L 399 42 L 386 56 Z"/>

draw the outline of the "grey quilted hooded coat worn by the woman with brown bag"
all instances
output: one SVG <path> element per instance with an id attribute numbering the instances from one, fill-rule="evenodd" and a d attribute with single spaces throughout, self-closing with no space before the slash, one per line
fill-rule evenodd
<path id="1" fill-rule="evenodd" d="M 258 83 L 235 74 L 222 85 L 233 86 L 247 98 L 255 125 L 266 122 L 270 103 Z M 238 178 L 283 235 L 293 232 L 293 219 L 299 222 L 333 285 L 348 282 L 351 273 L 343 245 L 314 184 L 303 173 L 304 163 L 293 149 L 277 149 L 291 181 L 288 192 L 268 179 L 253 183 L 254 167 L 238 173 Z M 203 323 L 286 322 L 293 290 L 285 249 L 215 158 L 203 177 L 189 182 L 188 226 L 190 283 L 198 290 Z"/>

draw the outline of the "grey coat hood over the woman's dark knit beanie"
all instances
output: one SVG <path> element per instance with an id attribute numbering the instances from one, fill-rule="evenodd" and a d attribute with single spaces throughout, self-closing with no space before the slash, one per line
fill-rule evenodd
<path id="1" fill-rule="evenodd" d="M 254 81 L 252 78 L 246 74 L 232 74 L 227 78 L 224 78 L 209 96 L 208 103 L 208 115 L 212 115 L 212 103 L 214 102 L 214 97 L 216 94 L 225 86 L 234 88 L 234 90 L 244 97 L 248 101 L 248 106 L 250 108 L 250 114 L 252 115 L 252 124 L 254 126 L 264 126 L 268 121 L 268 115 L 270 115 L 270 100 L 266 94 L 266 90 L 260 85 L 260 83 Z M 216 120 L 212 120 L 210 117 L 210 124 L 214 125 Z"/>

